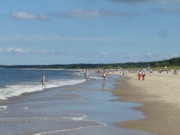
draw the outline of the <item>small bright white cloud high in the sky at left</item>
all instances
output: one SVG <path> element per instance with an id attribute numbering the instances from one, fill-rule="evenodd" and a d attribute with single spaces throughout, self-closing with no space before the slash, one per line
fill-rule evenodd
<path id="1" fill-rule="evenodd" d="M 11 17 L 14 19 L 24 19 L 24 20 L 49 20 L 50 18 L 45 14 L 29 14 L 27 12 L 11 12 Z"/>

